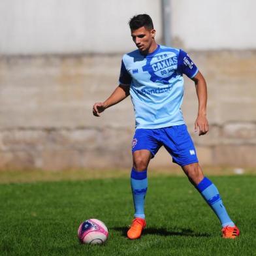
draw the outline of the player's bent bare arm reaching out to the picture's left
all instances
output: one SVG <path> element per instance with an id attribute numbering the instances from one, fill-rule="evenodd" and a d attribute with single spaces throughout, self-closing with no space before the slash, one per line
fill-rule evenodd
<path id="1" fill-rule="evenodd" d="M 100 113 L 103 112 L 106 108 L 109 108 L 110 106 L 113 106 L 114 104 L 120 103 L 120 101 L 123 101 L 126 97 L 130 95 L 130 86 L 129 85 L 123 85 L 120 84 L 104 101 L 103 103 L 95 103 L 93 105 L 93 115 L 94 116 L 100 116 Z"/>

